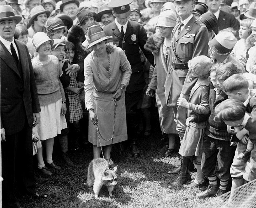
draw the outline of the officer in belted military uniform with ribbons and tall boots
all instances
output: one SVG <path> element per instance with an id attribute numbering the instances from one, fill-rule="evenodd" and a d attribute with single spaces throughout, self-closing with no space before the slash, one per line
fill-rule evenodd
<path id="1" fill-rule="evenodd" d="M 197 78 L 191 75 L 191 71 L 188 71 L 188 61 L 199 55 L 207 55 L 209 37 L 206 26 L 192 14 L 195 7 L 194 0 L 175 0 L 174 4 L 181 22 L 172 31 L 170 58 L 173 63 L 167 72 L 165 95 L 167 105 L 173 107 L 177 131 L 182 140 L 186 130 L 187 110 L 178 108 L 177 100 L 179 97 L 188 99 L 190 90 L 197 81 Z M 185 157 L 182 159 L 181 167 L 169 171 L 170 173 L 180 171 L 180 174 L 168 188 L 180 187 L 189 180 L 186 167 L 190 162 L 190 159 Z"/>

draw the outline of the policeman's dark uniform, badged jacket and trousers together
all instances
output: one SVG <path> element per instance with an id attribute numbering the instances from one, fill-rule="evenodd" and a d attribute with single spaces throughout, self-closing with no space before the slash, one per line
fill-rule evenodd
<path id="1" fill-rule="evenodd" d="M 113 10 L 115 12 L 115 8 L 113 8 Z M 124 36 L 119 31 L 115 21 L 103 27 L 103 30 L 107 36 L 113 36 L 113 38 L 108 39 L 108 41 L 113 42 L 116 46 L 122 48 L 131 64 L 132 75 L 129 86 L 126 89 L 125 105 L 128 139 L 136 140 L 138 125 L 137 104 L 142 96 L 143 87 L 145 86 L 139 48 L 141 48 L 143 54 L 153 66 L 154 57 L 151 52 L 144 49 L 144 45 L 147 41 L 147 34 L 141 24 L 128 20 Z"/>

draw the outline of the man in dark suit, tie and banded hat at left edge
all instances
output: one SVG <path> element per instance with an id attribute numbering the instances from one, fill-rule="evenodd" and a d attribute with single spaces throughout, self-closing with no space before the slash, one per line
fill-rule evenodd
<path id="1" fill-rule="evenodd" d="M 20 207 L 14 181 L 34 198 L 47 197 L 35 190 L 32 126 L 39 123 L 40 105 L 28 48 L 13 38 L 21 20 L 10 5 L 0 6 L 3 207 Z"/>

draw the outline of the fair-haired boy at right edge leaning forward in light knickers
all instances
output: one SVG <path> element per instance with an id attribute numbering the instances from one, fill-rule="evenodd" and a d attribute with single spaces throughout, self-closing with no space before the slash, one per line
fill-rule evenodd
<path id="1" fill-rule="evenodd" d="M 246 107 L 246 112 L 251 114 L 251 117 L 248 118 L 247 124 L 244 128 L 239 131 L 236 131 L 236 137 L 241 140 L 241 143 L 237 144 L 237 150 L 235 153 L 233 164 L 231 165 L 230 173 L 233 178 L 232 190 L 244 184 L 244 179 L 246 181 L 251 181 L 252 178 L 256 178 L 256 166 L 253 166 L 253 159 L 255 156 L 253 153 L 250 153 L 253 149 L 255 149 L 254 144 L 256 141 L 256 132 L 255 132 L 255 115 L 256 115 L 256 98 L 250 97 L 249 89 L 248 89 L 248 81 L 243 75 L 232 75 L 227 80 L 223 82 L 223 91 L 228 95 L 229 99 L 237 99 L 243 102 Z M 249 133 L 249 139 L 244 137 Z M 253 151 L 254 152 L 254 151 Z M 240 153 L 240 154 L 239 154 Z M 249 156 L 251 156 L 250 164 L 248 164 L 247 160 Z M 245 164 L 249 165 L 247 172 L 245 171 Z M 254 164 L 255 165 L 255 164 Z M 253 169 L 252 169 L 253 168 Z M 249 172 L 248 172 L 249 171 Z M 246 173 L 245 173 L 246 172 Z"/>

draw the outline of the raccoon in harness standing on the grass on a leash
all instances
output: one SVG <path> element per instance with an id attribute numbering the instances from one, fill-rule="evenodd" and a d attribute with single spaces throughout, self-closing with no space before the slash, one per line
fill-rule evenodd
<path id="1" fill-rule="evenodd" d="M 112 191 L 114 190 L 114 185 L 116 185 L 117 176 L 115 173 L 117 166 L 108 169 L 105 164 L 108 166 L 108 162 L 103 158 L 95 158 L 88 166 L 87 185 L 89 187 L 93 186 L 95 198 L 99 197 L 99 191 L 102 185 L 108 188 L 109 196 L 113 196 Z"/>

